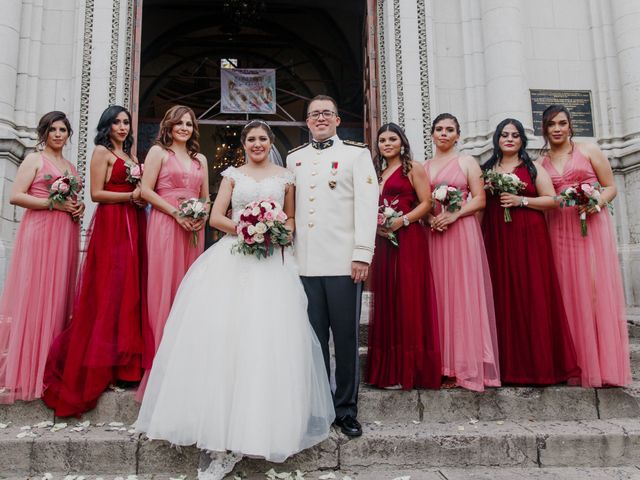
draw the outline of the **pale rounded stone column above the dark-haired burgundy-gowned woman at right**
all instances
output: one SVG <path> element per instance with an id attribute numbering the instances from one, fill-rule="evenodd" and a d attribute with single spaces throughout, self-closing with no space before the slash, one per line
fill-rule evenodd
<path id="1" fill-rule="evenodd" d="M 504 118 L 514 117 L 533 134 L 522 4 L 517 0 L 481 0 L 481 14 L 489 130 Z"/>

